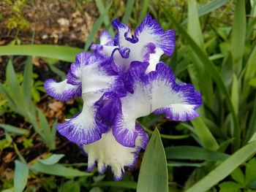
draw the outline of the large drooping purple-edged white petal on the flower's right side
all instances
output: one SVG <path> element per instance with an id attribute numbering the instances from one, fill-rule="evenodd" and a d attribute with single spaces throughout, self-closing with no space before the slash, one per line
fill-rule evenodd
<path id="1" fill-rule="evenodd" d="M 191 120 L 202 104 L 201 94 L 192 85 L 177 84 L 170 67 L 159 63 L 156 71 L 145 74 L 146 64 L 132 62 L 129 81 L 132 92 L 117 98 L 120 102 L 113 125 L 113 135 L 121 145 L 135 146 L 138 136 L 135 120 L 151 112 L 165 113 L 173 120 Z M 117 101 L 116 101 L 117 102 Z"/>

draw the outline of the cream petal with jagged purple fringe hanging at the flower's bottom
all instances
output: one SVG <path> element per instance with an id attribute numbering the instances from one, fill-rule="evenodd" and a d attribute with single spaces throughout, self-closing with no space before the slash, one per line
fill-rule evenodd
<path id="1" fill-rule="evenodd" d="M 88 154 L 88 169 L 94 169 L 95 162 L 99 173 L 105 172 L 105 168 L 110 166 L 115 180 L 121 180 L 124 168 L 132 168 L 137 163 L 138 152 L 148 143 L 148 136 L 145 132 L 138 131 L 135 147 L 124 147 L 116 142 L 112 131 L 102 135 L 102 139 L 83 145 L 83 150 Z"/>

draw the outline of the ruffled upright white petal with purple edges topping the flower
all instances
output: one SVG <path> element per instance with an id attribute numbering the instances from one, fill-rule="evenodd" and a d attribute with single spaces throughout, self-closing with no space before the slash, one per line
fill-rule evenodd
<path id="1" fill-rule="evenodd" d="M 150 72 L 155 69 L 163 53 L 167 55 L 173 53 L 175 31 L 163 31 L 157 20 L 152 19 L 150 15 L 147 15 L 135 30 L 134 37 L 127 25 L 118 20 L 113 20 L 112 24 L 117 31 L 114 41 L 119 50 L 113 53 L 113 60 L 120 66 L 122 72 L 127 72 L 132 61 L 148 61 L 150 65 L 147 72 Z M 127 54 L 122 51 L 124 49 Z"/>

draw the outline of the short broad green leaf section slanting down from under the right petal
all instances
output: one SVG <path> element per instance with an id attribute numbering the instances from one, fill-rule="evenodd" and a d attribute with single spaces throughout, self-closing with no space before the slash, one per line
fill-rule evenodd
<path id="1" fill-rule="evenodd" d="M 202 118 L 191 120 L 191 123 L 197 131 L 204 148 L 207 150 L 217 150 L 219 148 L 216 139 L 214 139 L 214 136 L 211 134 L 206 124 L 203 123 Z"/>

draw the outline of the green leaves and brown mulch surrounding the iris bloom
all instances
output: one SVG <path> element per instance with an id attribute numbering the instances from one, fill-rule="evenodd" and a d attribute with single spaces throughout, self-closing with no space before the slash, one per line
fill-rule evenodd
<path id="1" fill-rule="evenodd" d="M 2 191 L 256 191 L 255 1 L 4 0 L 0 7 Z M 135 28 L 147 13 L 176 31 L 175 53 L 162 59 L 203 93 L 201 116 L 140 118 L 152 135 L 146 152 L 113 182 L 110 172 L 86 172 L 86 156 L 56 133 L 81 101 L 51 99 L 42 84 L 63 79 L 102 28 L 113 35 L 110 20 Z"/>

